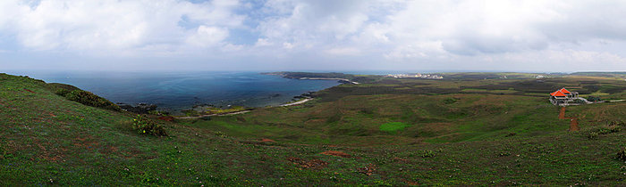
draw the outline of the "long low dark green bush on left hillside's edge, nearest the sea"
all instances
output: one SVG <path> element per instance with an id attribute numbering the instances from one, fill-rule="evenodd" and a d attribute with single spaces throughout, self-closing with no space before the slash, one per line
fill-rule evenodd
<path id="1" fill-rule="evenodd" d="M 65 98 L 67 98 L 70 101 L 80 102 L 84 105 L 98 107 L 98 108 L 102 108 L 106 110 L 115 110 L 115 111 L 121 110 L 120 106 L 117 106 L 113 102 L 109 102 L 105 98 L 97 96 L 94 93 L 90 93 L 90 92 L 83 91 L 83 90 L 74 90 L 72 92 L 66 93 L 62 89 L 59 89 L 59 90 L 60 91 L 57 91 L 57 94 L 64 94 Z"/>

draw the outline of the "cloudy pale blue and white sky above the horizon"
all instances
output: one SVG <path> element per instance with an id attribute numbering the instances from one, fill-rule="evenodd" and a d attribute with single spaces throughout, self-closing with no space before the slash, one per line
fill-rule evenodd
<path id="1" fill-rule="evenodd" d="M 624 71 L 626 1 L 2 0 L 0 70 Z"/>

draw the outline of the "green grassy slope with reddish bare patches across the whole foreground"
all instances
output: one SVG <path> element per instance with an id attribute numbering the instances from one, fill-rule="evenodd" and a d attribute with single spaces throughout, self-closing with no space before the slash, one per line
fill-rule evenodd
<path id="1" fill-rule="evenodd" d="M 555 119 L 558 111 L 554 107 L 529 112 L 540 102 L 533 97 L 509 103 L 506 98 L 474 93 L 433 95 L 423 100 L 408 94 L 363 94 L 210 121 L 190 120 L 185 122 L 188 126 L 164 122 L 172 135 L 157 138 L 132 131 L 131 114 L 70 102 L 48 91 L 47 86 L 30 78 L 0 75 L 0 185 L 49 184 L 50 179 L 73 185 L 619 185 L 626 179 L 626 164 L 613 159 L 617 150 L 626 146 L 624 131 L 600 134 L 597 140 L 587 138 L 589 131 L 606 120 L 626 120 L 623 102 L 572 107 L 568 115 L 578 115 L 585 123 L 581 122 L 582 131 L 567 133 L 563 131 L 567 121 Z M 450 97 L 458 101 L 444 104 Z M 485 102 L 501 104 L 481 104 Z M 383 110 L 362 110 L 372 106 Z M 426 106 L 446 112 L 412 110 Z M 483 116 L 512 106 L 520 109 L 496 118 Z M 405 114 L 408 111 L 420 115 L 411 118 L 416 115 Z M 397 134 L 385 134 L 379 124 L 388 122 L 411 126 Z M 458 124 L 439 132 L 434 128 L 438 123 Z M 344 126 L 348 124 L 353 126 Z M 429 124 L 432 126 L 425 127 Z M 494 130 L 483 131 L 485 124 Z M 418 138 L 410 134 L 422 132 L 420 129 L 434 132 L 418 134 Z M 545 130 L 549 133 L 537 133 Z M 518 135 L 504 137 L 504 132 Z M 278 142 L 257 141 L 261 137 Z M 423 142 L 428 140 L 450 143 Z M 331 142 L 339 145 L 326 145 Z M 368 142 L 374 145 L 351 146 Z M 320 154 L 326 150 L 340 150 L 352 157 Z M 309 168 L 306 163 L 311 160 L 327 164 Z M 372 169 L 371 175 L 360 173 L 365 167 Z"/>

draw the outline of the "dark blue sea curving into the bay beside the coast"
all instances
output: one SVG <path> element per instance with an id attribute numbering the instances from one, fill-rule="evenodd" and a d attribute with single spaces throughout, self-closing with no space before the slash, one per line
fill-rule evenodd
<path id="1" fill-rule="evenodd" d="M 8 71 L 47 83 L 74 85 L 111 102 L 157 104 L 177 111 L 194 105 L 263 107 L 340 85 L 336 80 L 298 80 L 260 72 Z"/>

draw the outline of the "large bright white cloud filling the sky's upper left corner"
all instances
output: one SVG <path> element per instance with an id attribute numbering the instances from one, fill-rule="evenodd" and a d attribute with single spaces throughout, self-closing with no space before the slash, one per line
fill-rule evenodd
<path id="1" fill-rule="evenodd" d="M 172 50 L 180 45 L 213 45 L 241 27 L 244 16 L 232 12 L 236 1 L 191 4 L 184 1 L 11 1 L 2 10 L 2 32 L 32 50 L 127 52 L 145 48 Z M 4 14 L 4 13 L 3 13 Z M 0 16 L 6 18 L 7 16 Z M 185 23 L 181 23 L 185 20 Z M 181 25 L 186 24 L 186 25 Z M 190 27 L 190 28 L 189 28 Z M 194 41 L 189 42 L 190 38 Z M 154 45 L 154 46 L 151 46 Z M 172 46 L 163 47 L 166 45 Z"/>

